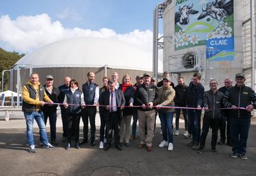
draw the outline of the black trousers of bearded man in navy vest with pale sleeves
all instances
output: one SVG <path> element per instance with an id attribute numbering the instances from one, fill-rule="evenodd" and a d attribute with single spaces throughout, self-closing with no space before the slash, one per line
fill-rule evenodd
<path id="1" fill-rule="evenodd" d="M 90 120 L 91 126 L 91 140 L 95 140 L 95 116 L 96 116 L 96 107 L 86 107 L 82 110 L 82 122 L 84 123 L 84 140 L 88 139 L 88 118 Z"/>

